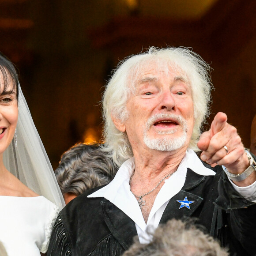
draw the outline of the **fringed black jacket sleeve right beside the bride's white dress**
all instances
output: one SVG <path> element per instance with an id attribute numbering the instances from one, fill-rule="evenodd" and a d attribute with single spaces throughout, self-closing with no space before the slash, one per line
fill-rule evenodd
<path id="1" fill-rule="evenodd" d="M 57 216 L 49 243 L 47 256 L 71 256 L 71 243 L 65 230 L 62 213 Z"/>

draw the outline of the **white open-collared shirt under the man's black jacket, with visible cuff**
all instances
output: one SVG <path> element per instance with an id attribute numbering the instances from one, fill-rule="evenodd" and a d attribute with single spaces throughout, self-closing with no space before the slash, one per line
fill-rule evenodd
<path id="1" fill-rule="evenodd" d="M 98 191 L 90 194 L 88 197 L 104 197 L 117 206 L 135 222 L 140 243 L 149 243 L 152 239 L 152 235 L 148 232 L 152 233 L 152 231 L 158 227 L 162 214 L 169 203 L 169 200 L 180 192 L 185 183 L 188 168 L 200 175 L 215 175 L 213 170 L 208 169 L 203 165 L 194 151 L 186 151 L 186 154 L 182 159 L 177 171 L 165 180 L 165 184 L 158 192 L 158 195 L 154 200 L 153 207 L 151 208 L 147 223 L 143 218 L 136 197 L 133 196 L 132 192 L 130 191 L 129 181 L 135 169 L 134 158 L 128 159 L 120 166 L 120 169 L 118 170 L 113 181 Z M 235 184 L 233 184 L 233 186 L 237 189 Z M 238 188 L 241 190 L 240 187 Z M 237 191 L 241 193 L 240 190 Z M 251 190 L 253 190 L 255 194 L 256 182 Z M 248 195 L 248 192 L 245 193 Z M 183 200 L 183 198 L 181 198 L 181 200 Z"/>

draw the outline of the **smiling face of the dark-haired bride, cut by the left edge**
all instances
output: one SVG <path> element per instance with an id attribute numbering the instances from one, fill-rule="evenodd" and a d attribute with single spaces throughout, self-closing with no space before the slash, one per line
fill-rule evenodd
<path id="1" fill-rule="evenodd" d="M 6 82 L 7 84 L 4 84 Z M 4 79 L 2 72 L 0 72 L 0 154 L 3 154 L 11 143 L 17 121 L 18 101 L 16 89 L 13 87 L 10 75 L 7 76 L 7 79 Z"/>

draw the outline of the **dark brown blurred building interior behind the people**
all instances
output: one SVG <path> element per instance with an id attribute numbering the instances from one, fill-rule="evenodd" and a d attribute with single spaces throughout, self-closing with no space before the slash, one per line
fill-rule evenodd
<path id="1" fill-rule="evenodd" d="M 191 47 L 214 69 L 213 105 L 249 147 L 256 113 L 254 0 L 0 0 L 0 51 L 53 168 L 77 142 L 101 137 L 101 96 L 118 61 L 149 46 Z"/>

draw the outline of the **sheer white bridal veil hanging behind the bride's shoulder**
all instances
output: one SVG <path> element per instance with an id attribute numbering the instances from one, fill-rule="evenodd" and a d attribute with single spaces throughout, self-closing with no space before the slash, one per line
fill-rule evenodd
<path id="1" fill-rule="evenodd" d="M 23 184 L 61 210 L 64 199 L 20 86 L 18 107 L 17 147 L 12 140 L 4 151 L 4 165 Z"/>

